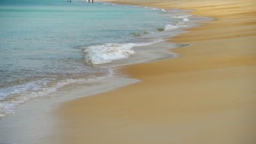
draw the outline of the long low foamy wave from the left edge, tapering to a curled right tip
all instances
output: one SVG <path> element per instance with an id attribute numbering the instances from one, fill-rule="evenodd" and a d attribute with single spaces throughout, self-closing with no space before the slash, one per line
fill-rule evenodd
<path id="1" fill-rule="evenodd" d="M 58 91 L 63 86 L 77 82 L 87 82 L 112 76 L 114 71 L 106 69 L 106 73 L 86 78 L 68 78 L 59 80 L 55 78 L 43 78 L 0 89 L 0 118 L 15 113 L 17 106 L 37 97 L 45 97 Z M 54 81 L 54 82 L 52 82 Z"/>

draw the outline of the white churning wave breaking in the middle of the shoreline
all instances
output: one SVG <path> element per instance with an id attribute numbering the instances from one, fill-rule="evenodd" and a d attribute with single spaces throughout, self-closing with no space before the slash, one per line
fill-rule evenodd
<path id="1" fill-rule="evenodd" d="M 130 55 L 135 54 L 132 50 L 133 47 L 149 44 L 152 43 L 105 43 L 102 45 L 83 47 L 85 52 L 85 61 L 87 63 L 97 65 L 108 63 L 113 60 L 129 58 Z"/>

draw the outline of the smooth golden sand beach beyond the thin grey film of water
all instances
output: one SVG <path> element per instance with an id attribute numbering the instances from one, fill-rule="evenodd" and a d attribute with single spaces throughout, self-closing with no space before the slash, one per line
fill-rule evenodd
<path id="1" fill-rule="evenodd" d="M 61 143 L 256 143 L 256 1 L 118 1 L 218 20 L 171 42 L 175 59 L 122 68 L 142 79 L 65 103 Z"/>

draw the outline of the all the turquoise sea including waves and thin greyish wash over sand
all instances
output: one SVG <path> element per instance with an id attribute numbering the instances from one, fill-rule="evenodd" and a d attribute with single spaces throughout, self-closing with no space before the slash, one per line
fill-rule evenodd
<path id="1" fill-rule="evenodd" d="M 165 40 L 211 20 L 187 12 L 0 0 L 0 143 L 54 143 L 63 102 L 139 82 L 119 66 L 178 57 L 189 44 Z"/>

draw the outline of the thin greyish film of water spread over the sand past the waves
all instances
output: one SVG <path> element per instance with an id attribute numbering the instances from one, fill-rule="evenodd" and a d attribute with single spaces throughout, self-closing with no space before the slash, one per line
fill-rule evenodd
<path id="1" fill-rule="evenodd" d="M 179 10 L 171 9 L 170 11 Z M 187 12 L 189 11 L 183 11 L 185 15 L 189 15 Z M 198 27 L 202 25 L 198 24 L 198 22 L 210 20 L 213 19 L 196 17 L 196 20 L 193 21 L 194 23 L 191 27 Z M 66 85 L 61 87 L 57 92 L 51 93 L 46 97 L 37 97 L 18 106 L 15 114 L 10 114 L 9 116 L 5 116 L 0 120 L 0 143 L 38 143 L 38 141 L 41 141 L 40 143 L 50 143 L 50 141 L 47 141 L 48 139 L 45 138 L 51 138 L 51 135 L 58 131 L 55 126 L 61 121 L 61 119 L 58 119 L 56 111 L 58 111 L 58 108 L 62 103 L 98 93 L 112 91 L 118 89 L 119 87 L 140 82 L 139 79 L 132 79 L 122 74 L 119 69 L 125 65 L 133 65 L 135 63 L 145 63 L 178 57 L 178 54 L 172 53 L 170 49 L 188 46 L 189 44 L 178 45 L 165 41 L 181 33 L 187 33 L 187 28 L 183 28 L 182 32 L 180 31 L 179 33 L 175 33 L 171 36 L 163 36 L 163 41 L 161 42 L 147 46 L 134 47 L 133 50 L 136 52 L 136 54 L 132 55 L 129 59 L 121 59 L 106 65 L 98 65 L 98 67 L 102 68 L 111 68 L 113 70 L 113 75 L 111 76 Z M 149 56 L 143 55 L 143 51 L 145 51 L 146 47 L 147 50 L 150 51 L 159 46 L 164 47 L 164 49 L 162 49 L 162 51 L 159 53 L 151 53 L 151 59 L 147 61 L 138 59 L 139 57 L 141 58 Z M 156 55 L 161 55 L 161 57 Z M 125 65 L 123 64 L 124 61 Z M 12 135 L 17 136 L 12 137 Z"/>

